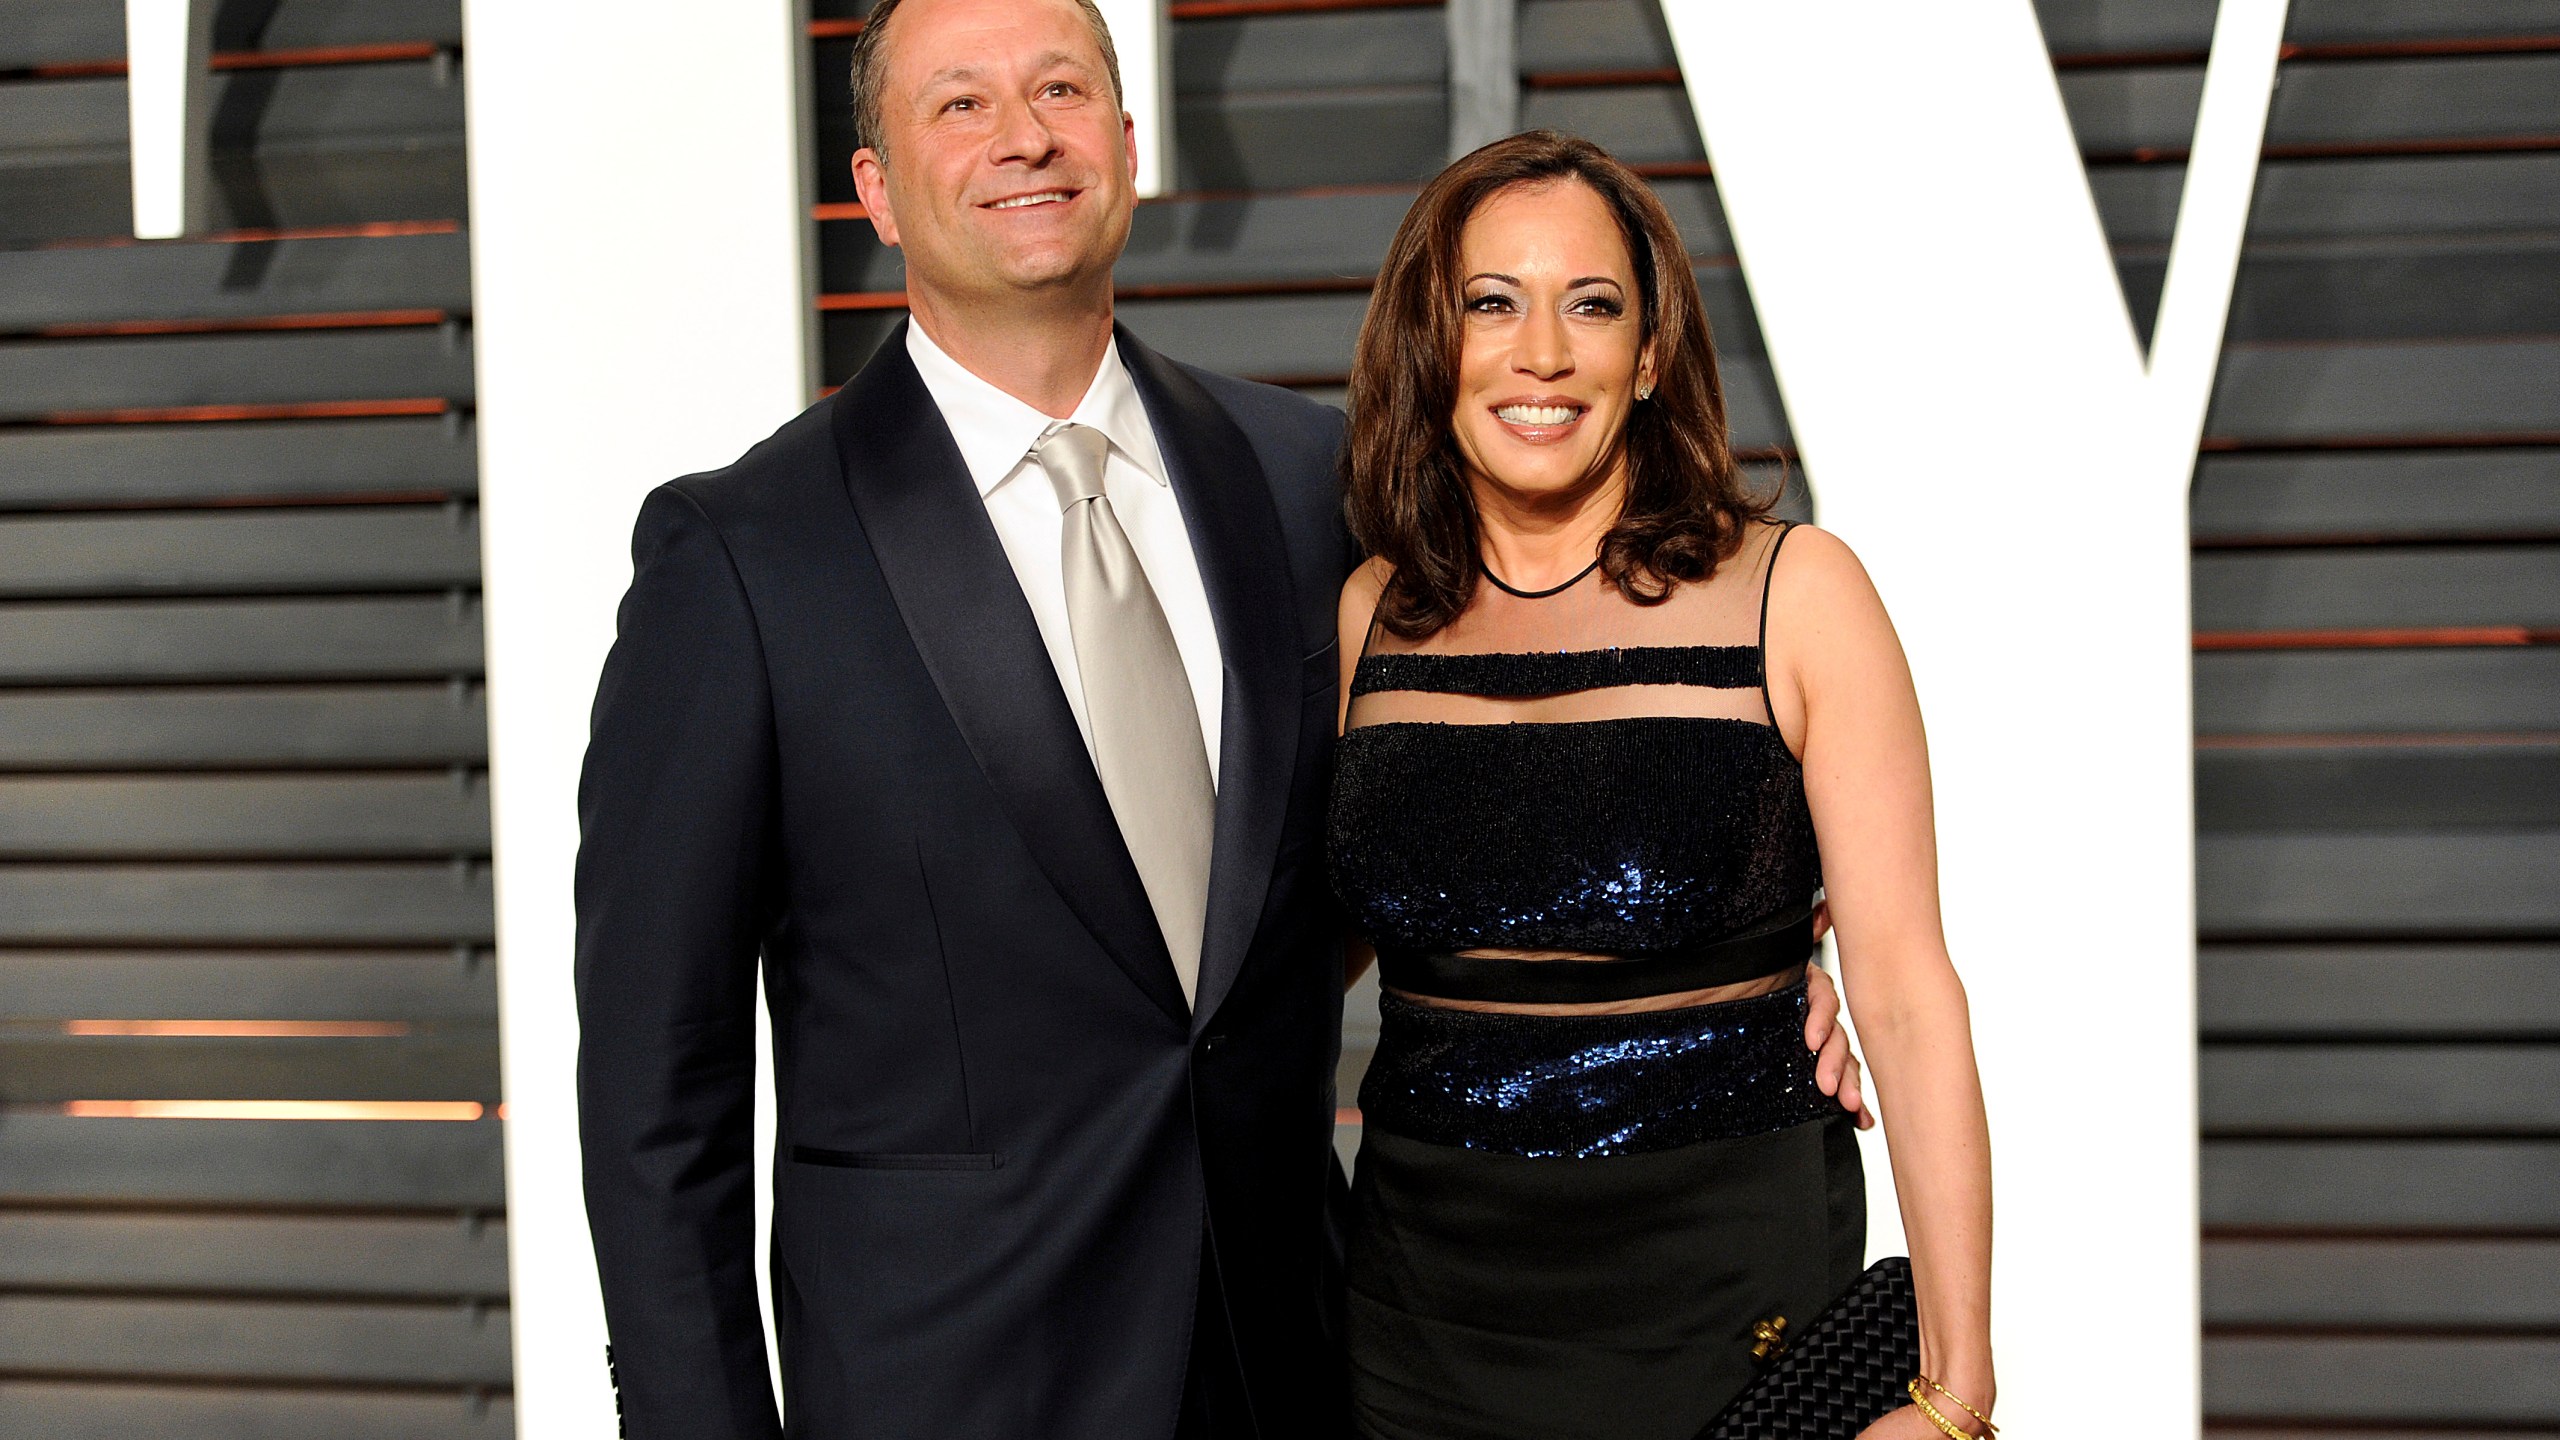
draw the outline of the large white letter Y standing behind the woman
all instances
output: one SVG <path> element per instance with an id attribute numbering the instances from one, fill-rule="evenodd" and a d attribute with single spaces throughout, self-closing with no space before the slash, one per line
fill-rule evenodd
<path id="1" fill-rule="evenodd" d="M 1664 0 L 1823 520 L 1920 682 L 2020 1435 L 2196 1432 L 2186 487 L 2284 10 L 2222 5 L 2145 361 L 2028 0 Z"/>

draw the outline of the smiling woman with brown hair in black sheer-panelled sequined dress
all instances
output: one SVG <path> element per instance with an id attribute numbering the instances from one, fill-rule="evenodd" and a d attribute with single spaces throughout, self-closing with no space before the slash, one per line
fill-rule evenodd
<path id="1" fill-rule="evenodd" d="M 1915 443 L 1925 443 L 1915 436 Z M 1805 1048 L 1828 899 L 1946 1422 L 1992 1409 L 1989 1138 L 1928 753 L 1848 548 L 1725 443 L 1669 215 L 1587 141 L 1423 190 L 1352 374 L 1331 869 L 1375 945 L 1352 1394 L 1375 1440 L 1690 1440 L 1861 1268 Z"/>

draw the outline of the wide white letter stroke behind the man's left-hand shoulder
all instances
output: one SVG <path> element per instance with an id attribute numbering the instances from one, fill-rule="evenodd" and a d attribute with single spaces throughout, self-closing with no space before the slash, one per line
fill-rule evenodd
<path id="1" fill-rule="evenodd" d="M 809 41 L 791 5 L 686 0 L 466 0 L 463 26 L 517 1432 L 607 1440 L 579 761 L 640 497 L 809 402 Z"/>

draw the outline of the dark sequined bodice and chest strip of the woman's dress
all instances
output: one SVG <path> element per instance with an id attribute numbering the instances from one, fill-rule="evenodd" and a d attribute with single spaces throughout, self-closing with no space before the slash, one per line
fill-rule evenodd
<path id="1" fill-rule="evenodd" d="M 1620 684 L 1759 687 L 1761 651 L 1364 656 L 1352 694 Z M 1679 953 L 1800 912 L 1823 884 L 1802 766 L 1756 720 L 1390 720 L 1352 728 L 1334 766 L 1334 892 L 1380 951 Z"/>

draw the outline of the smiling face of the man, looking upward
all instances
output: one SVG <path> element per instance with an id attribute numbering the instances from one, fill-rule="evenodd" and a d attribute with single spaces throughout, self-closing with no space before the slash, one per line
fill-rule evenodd
<path id="1" fill-rule="evenodd" d="M 906 0 L 883 41 L 881 151 L 852 169 L 909 287 L 988 302 L 1108 284 L 1137 151 L 1083 10 Z"/>

